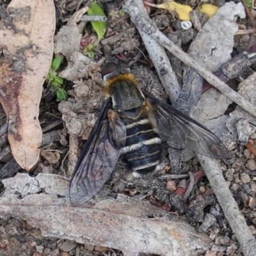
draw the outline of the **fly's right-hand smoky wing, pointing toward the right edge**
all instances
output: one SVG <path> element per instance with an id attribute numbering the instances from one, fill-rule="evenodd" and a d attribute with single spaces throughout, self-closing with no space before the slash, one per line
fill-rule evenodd
<path id="1" fill-rule="evenodd" d="M 228 158 L 230 154 L 221 140 L 204 125 L 173 106 L 161 102 L 147 90 L 142 90 L 152 105 L 149 113 L 152 123 L 156 124 L 163 140 L 172 138 L 189 150 L 212 158 Z"/>

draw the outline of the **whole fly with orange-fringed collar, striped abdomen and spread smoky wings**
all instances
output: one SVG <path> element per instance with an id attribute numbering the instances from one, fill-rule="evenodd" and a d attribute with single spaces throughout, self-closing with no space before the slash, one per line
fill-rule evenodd
<path id="1" fill-rule="evenodd" d="M 229 157 L 211 131 L 140 89 L 125 61 L 106 63 L 102 78 L 105 100 L 70 181 L 72 205 L 84 204 L 102 188 L 120 156 L 136 177 L 157 170 L 170 137 L 198 154 Z"/>

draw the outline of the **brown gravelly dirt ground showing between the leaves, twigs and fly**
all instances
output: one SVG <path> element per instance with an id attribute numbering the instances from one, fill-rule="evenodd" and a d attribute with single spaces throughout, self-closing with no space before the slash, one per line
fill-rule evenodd
<path id="1" fill-rule="evenodd" d="M 159 3 L 159 1 L 155 1 L 155 3 L 156 2 Z M 181 2 L 186 2 L 186 4 L 189 4 L 193 8 L 198 6 L 200 3 L 198 0 L 186 0 Z M 221 0 L 209 0 L 204 2 L 213 3 L 218 6 L 221 6 L 225 3 L 225 1 Z M 4 6 L 7 6 L 7 1 L 1 1 L 0 3 L 4 4 Z M 67 24 L 68 20 L 74 12 L 88 5 L 88 2 L 85 0 L 56 0 L 54 3 L 56 6 L 56 33 L 58 33 L 61 26 Z M 106 13 L 106 16 L 108 17 L 108 29 L 100 44 L 98 44 L 92 51 L 93 61 L 97 63 L 102 61 L 102 58 L 106 58 L 108 61 L 115 60 L 116 58 L 126 60 L 130 64 L 132 72 L 135 74 L 141 84 L 145 83 L 145 86 L 149 87 L 155 86 L 157 84 L 156 88 L 160 88 L 157 90 L 159 97 L 161 97 L 161 99 L 167 99 L 168 96 L 161 89 L 156 70 L 154 69 L 152 61 L 150 61 L 150 58 L 148 57 L 147 50 L 143 45 L 140 34 L 129 19 L 129 15 L 121 11 L 123 4 L 122 1 L 102 0 L 99 1 L 99 3 L 102 5 L 104 13 Z M 156 22 L 157 27 L 160 28 L 165 35 L 168 35 L 168 33 L 172 31 L 179 32 L 179 20 L 177 20 L 172 13 L 168 13 L 166 10 L 149 8 L 148 6 L 147 8 L 150 10 L 150 18 Z M 253 19 L 255 19 L 256 9 L 253 10 L 251 14 L 254 15 Z M 246 19 L 239 20 L 239 28 L 253 28 L 253 24 L 250 20 L 250 17 L 248 17 L 248 14 L 246 15 Z M 183 51 L 188 51 L 189 45 L 196 37 L 197 33 L 198 31 L 193 29 L 193 31 L 191 33 L 187 33 L 187 35 L 184 35 L 184 33 L 182 34 L 181 32 L 175 34 L 177 44 L 180 44 L 179 46 L 183 49 Z M 248 33 L 235 36 L 234 51 L 232 52 L 232 56 L 236 56 L 240 52 L 255 44 L 255 35 L 256 33 Z M 93 32 L 90 22 L 88 22 L 83 29 L 83 37 L 83 44 L 88 44 L 88 42 L 95 42 L 96 35 Z M 81 51 L 83 51 L 82 48 L 83 47 L 81 47 Z M 171 60 L 175 60 L 175 57 L 173 58 L 171 54 L 169 56 Z M 67 67 L 67 60 L 64 60 L 61 66 L 62 69 L 65 67 Z M 244 68 L 243 72 L 241 74 L 237 74 L 234 79 L 228 81 L 228 84 L 234 88 L 234 90 L 238 90 L 238 84 L 246 79 L 249 75 L 253 74 L 253 72 L 256 70 L 255 68 L 255 63 L 254 65 L 250 65 L 250 67 Z M 184 65 L 182 65 L 181 61 L 175 61 L 175 63 L 173 63 L 173 69 L 175 70 L 177 77 L 179 77 L 179 81 L 182 81 Z M 145 76 L 148 77 L 147 81 L 144 79 Z M 99 73 L 95 75 L 94 79 L 95 81 L 97 80 L 98 84 L 102 84 Z M 74 93 L 72 86 L 73 84 L 67 80 L 63 84 L 65 90 L 67 90 L 67 92 L 70 94 L 69 97 L 77 99 L 76 96 L 71 95 Z M 100 104 L 102 102 L 102 98 L 100 98 L 102 95 L 100 95 L 99 87 L 97 90 L 99 91 L 97 92 L 99 94 L 95 93 L 95 97 L 99 97 L 98 103 L 93 106 L 93 109 L 90 109 L 91 106 L 89 105 L 85 108 L 85 110 L 83 110 L 83 115 L 91 120 L 95 118 L 95 116 L 97 116 L 99 113 Z M 41 157 L 40 162 L 36 164 L 35 168 L 29 172 L 31 175 L 35 176 L 38 173 L 65 175 L 65 173 L 68 173 L 68 157 L 66 156 L 68 153 L 68 143 L 70 143 L 70 140 L 67 129 L 65 129 L 65 125 L 63 125 L 62 115 L 59 110 L 60 106 L 58 105 L 59 102 L 56 100 L 56 95 L 54 90 L 52 90 L 51 84 L 45 83 L 44 93 L 40 103 L 40 124 L 42 125 L 42 129 L 45 133 L 52 132 L 52 134 L 61 134 L 60 136 L 55 136 L 56 138 L 48 138 L 48 142 L 44 147 L 47 148 L 47 150 L 51 149 L 52 152 L 58 152 L 58 161 L 54 162 L 55 158 L 52 159 L 51 157 Z M 228 106 L 227 114 L 234 111 L 235 108 L 236 104 L 230 104 Z M 79 111 L 81 111 L 81 109 Z M 91 115 L 93 115 L 93 118 Z M 6 115 L 4 114 L 3 109 L 0 108 L 0 126 L 2 127 L 5 122 Z M 91 127 L 90 125 L 86 127 L 87 130 L 83 131 L 78 138 L 80 150 L 82 148 L 84 139 L 88 137 L 88 129 L 91 129 Z M 49 141 L 51 141 L 51 143 L 49 143 Z M 221 160 L 221 170 L 223 171 L 223 175 L 226 179 L 228 187 L 230 188 L 230 191 L 232 192 L 232 195 L 239 205 L 240 211 L 243 213 L 244 218 L 246 219 L 248 227 L 250 228 L 253 236 L 256 236 L 255 132 L 251 134 L 249 143 L 252 147 L 250 147 L 250 145 L 245 147 L 239 145 L 238 143 L 234 145 L 232 152 L 236 157 L 233 159 Z M 10 146 L 8 145 L 7 141 L 1 147 L 1 152 L 5 152 L 6 150 L 10 151 Z M 55 154 L 55 156 L 57 155 Z M 197 219 L 194 218 L 192 221 L 190 219 L 189 222 L 193 227 L 199 229 L 201 228 L 201 230 L 203 230 L 207 236 L 210 237 L 213 246 L 211 251 L 208 250 L 205 252 L 205 254 L 198 253 L 198 255 L 243 255 L 239 243 L 237 242 L 236 236 L 232 232 L 232 229 L 230 228 L 230 225 L 228 224 L 228 221 L 225 218 L 223 211 L 221 210 L 220 204 L 218 204 L 218 201 L 214 196 L 214 192 L 211 189 L 209 181 L 204 175 L 204 170 L 202 170 L 202 167 L 200 166 L 200 163 L 196 157 L 190 159 L 186 163 L 182 163 L 182 170 L 189 170 L 189 172 L 192 172 L 195 175 L 195 184 L 191 189 L 191 193 L 189 194 L 188 199 L 186 202 L 182 203 L 182 206 L 179 206 L 179 203 L 177 203 L 175 200 L 173 201 L 174 205 L 167 204 L 161 200 L 161 196 L 159 198 L 159 196 L 157 196 L 154 191 L 152 192 L 154 189 L 150 190 L 150 185 L 148 184 L 152 183 L 149 182 L 147 184 L 147 179 L 145 179 L 146 181 L 144 182 L 125 180 L 125 177 L 122 176 L 121 171 L 124 170 L 124 166 L 122 166 L 122 163 L 120 163 L 120 165 L 120 168 L 119 165 L 116 168 L 119 168 L 120 170 L 113 173 L 113 177 L 111 177 L 111 180 L 109 180 L 106 186 L 104 186 L 104 189 L 108 188 L 109 191 L 113 192 L 114 196 L 117 193 L 122 193 L 128 196 L 145 195 L 143 200 L 149 201 L 150 204 L 158 207 L 159 209 L 162 209 L 163 211 L 170 212 L 170 214 L 175 212 L 175 214 L 181 214 L 185 216 L 189 211 L 192 211 L 191 209 L 197 213 L 201 211 L 204 213 L 203 216 L 200 216 Z M 164 168 L 159 172 L 159 175 L 172 174 L 172 167 L 168 163 L 167 158 L 164 160 L 163 167 Z M 0 159 L 0 173 L 6 172 L 5 170 L 9 170 L 8 168 L 12 170 L 12 175 L 10 175 L 10 173 L 4 177 L 2 175 L 0 179 L 13 177 L 15 173 L 26 172 L 21 170 L 17 163 L 15 163 L 12 154 L 6 154 Z M 184 173 L 186 174 L 186 172 Z M 182 172 L 182 174 L 184 173 Z M 70 173 L 68 173 L 67 176 L 68 175 L 70 175 Z M 154 176 L 154 179 L 157 179 L 157 175 Z M 164 186 L 164 188 L 167 187 L 169 191 L 175 191 L 177 195 L 184 195 L 184 191 L 188 189 L 189 177 L 187 176 L 185 179 L 183 178 L 183 184 L 180 184 L 179 179 L 168 180 L 168 182 L 166 182 L 166 180 L 163 182 L 163 180 L 159 179 L 159 183 L 156 181 L 154 186 Z M 0 183 L 0 192 L 3 191 L 3 189 L 3 184 Z M 200 203 L 202 198 L 204 200 L 203 205 Z M 177 205 L 175 205 L 175 202 Z M 197 203 L 199 206 L 195 206 Z M 197 213 L 195 213 L 195 215 Z M 205 223 L 206 226 L 202 227 L 202 223 Z M 24 220 L 19 220 L 17 218 L 3 220 L 0 218 L 0 255 L 114 256 L 123 254 L 122 252 L 112 248 L 93 246 L 90 244 L 78 244 L 74 241 L 43 237 L 40 229 L 31 227 Z M 141 253 L 141 255 L 143 254 Z M 145 253 L 145 255 L 149 254 Z"/>

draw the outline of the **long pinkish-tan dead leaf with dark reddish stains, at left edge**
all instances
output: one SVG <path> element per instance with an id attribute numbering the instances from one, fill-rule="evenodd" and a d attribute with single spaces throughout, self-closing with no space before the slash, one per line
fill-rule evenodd
<path id="1" fill-rule="evenodd" d="M 51 66 L 55 8 L 53 0 L 13 0 L 7 12 L 13 20 L 0 24 L 5 28 L 0 30 L 0 102 L 9 120 L 13 157 L 29 170 L 40 154 L 39 103 Z"/>

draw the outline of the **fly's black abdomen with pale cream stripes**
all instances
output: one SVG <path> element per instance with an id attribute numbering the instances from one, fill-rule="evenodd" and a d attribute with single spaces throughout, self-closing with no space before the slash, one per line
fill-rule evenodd
<path id="1" fill-rule="evenodd" d="M 137 120 L 124 119 L 127 137 L 122 149 L 123 160 L 132 172 L 154 172 L 161 161 L 161 138 L 147 115 Z"/>

